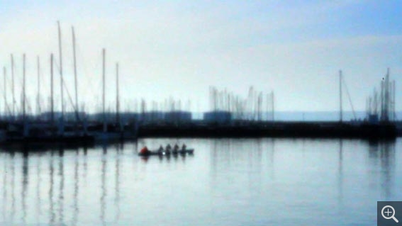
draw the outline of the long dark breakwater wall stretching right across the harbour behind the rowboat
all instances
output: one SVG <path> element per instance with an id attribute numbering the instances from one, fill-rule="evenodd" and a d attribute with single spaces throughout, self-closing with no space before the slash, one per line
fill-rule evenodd
<path id="1" fill-rule="evenodd" d="M 328 122 L 255 122 L 230 125 L 186 123 L 140 125 L 138 137 L 328 137 L 395 139 L 393 124 Z"/>

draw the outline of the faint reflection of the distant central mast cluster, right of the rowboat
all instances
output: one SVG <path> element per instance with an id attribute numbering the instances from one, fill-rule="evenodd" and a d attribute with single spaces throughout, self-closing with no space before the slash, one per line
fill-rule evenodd
<path id="1" fill-rule="evenodd" d="M 274 140 L 216 139 L 211 140 L 211 187 L 222 187 L 222 181 L 239 187 L 247 185 L 254 195 L 262 192 L 262 180 L 274 178 Z M 269 161 L 271 164 L 266 164 Z M 264 167 L 269 168 L 267 171 Z"/>

